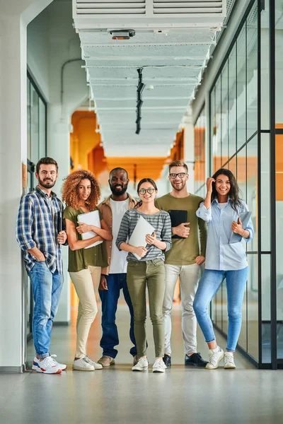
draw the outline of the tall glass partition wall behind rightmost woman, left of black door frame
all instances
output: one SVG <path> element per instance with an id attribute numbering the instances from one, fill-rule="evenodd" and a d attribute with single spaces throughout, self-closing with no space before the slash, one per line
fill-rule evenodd
<path id="1" fill-rule="evenodd" d="M 226 58 L 210 94 L 211 171 L 231 170 L 255 228 L 247 249 L 249 274 L 243 300 L 239 345 L 259 360 L 258 351 L 258 6 L 255 3 Z M 213 300 L 214 322 L 227 333 L 225 282 Z"/>

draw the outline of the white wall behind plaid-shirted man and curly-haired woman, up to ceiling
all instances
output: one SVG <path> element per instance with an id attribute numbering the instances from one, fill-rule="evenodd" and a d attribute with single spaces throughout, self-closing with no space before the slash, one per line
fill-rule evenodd
<path id="1" fill-rule="evenodd" d="M 72 26 L 71 2 L 53 2 L 28 25 L 28 67 L 47 100 L 47 155 L 57 160 L 59 178 L 54 191 L 61 196 L 62 179 L 69 174 L 71 114 L 88 96 L 83 61 L 64 66 L 63 104 L 61 71 L 65 62 L 79 59 L 79 35 Z M 64 286 L 55 322 L 70 321 L 68 248 L 62 247 Z"/>

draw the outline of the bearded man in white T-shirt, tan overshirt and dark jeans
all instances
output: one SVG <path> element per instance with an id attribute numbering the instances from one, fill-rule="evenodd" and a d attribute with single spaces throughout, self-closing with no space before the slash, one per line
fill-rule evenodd
<path id="1" fill-rule="evenodd" d="M 129 178 L 124 168 L 116 167 L 113 169 L 110 172 L 108 183 L 112 194 L 98 205 L 101 216 L 113 235 L 111 242 L 105 241 L 109 266 L 101 270 L 99 286 L 103 331 L 100 346 L 103 349 L 103 355 L 98 360 L 98 363 L 103 365 L 103 367 L 115 365 L 115 358 L 118 353 L 115 348 L 119 344 L 115 320 L 117 302 L 121 290 L 130 314 L 129 338 L 133 346 L 130 348 L 129 353 L 133 356 L 134 365 L 137 363 L 137 346 L 134 339 L 134 310 L 127 288 L 127 252 L 119 251 L 116 247 L 116 239 L 122 218 L 128 209 L 134 208 L 137 201 L 127 193 Z"/>

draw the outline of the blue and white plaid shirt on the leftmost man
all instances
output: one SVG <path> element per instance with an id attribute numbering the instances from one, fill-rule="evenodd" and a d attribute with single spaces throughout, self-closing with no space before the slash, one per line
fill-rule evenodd
<path id="1" fill-rule="evenodd" d="M 25 268 L 30 272 L 37 259 L 28 249 L 37 247 L 45 255 L 47 266 L 52 273 L 62 273 L 61 249 L 57 242 L 63 204 L 55 193 L 51 198 L 40 187 L 25 194 L 18 209 L 17 241 L 23 250 Z"/>

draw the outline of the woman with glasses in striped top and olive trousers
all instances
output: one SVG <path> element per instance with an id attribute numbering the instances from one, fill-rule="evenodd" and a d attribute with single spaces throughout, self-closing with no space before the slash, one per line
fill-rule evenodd
<path id="1" fill-rule="evenodd" d="M 164 260 L 166 252 L 171 249 L 171 220 L 168 212 L 154 206 L 157 187 L 153 179 L 144 178 L 138 184 L 137 192 L 141 201 L 125 213 L 122 218 L 116 245 L 127 255 L 127 285 L 134 308 L 134 337 L 137 343 L 139 361 L 132 367 L 133 371 L 144 371 L 149 367 L 146 358 L 146 286 L 149 293 L 149 312 L 154 331 L 156 360 L 153 372 L 164 372 L 164 326 L 163 298 L 165 292 Z M 134 247 L 127 242 L 131 237 L 139 218 L 148 221 L 155 229 L 146 235 L 146 247 Z M 137 254 L 140 260 L 134 256 Z"/>

